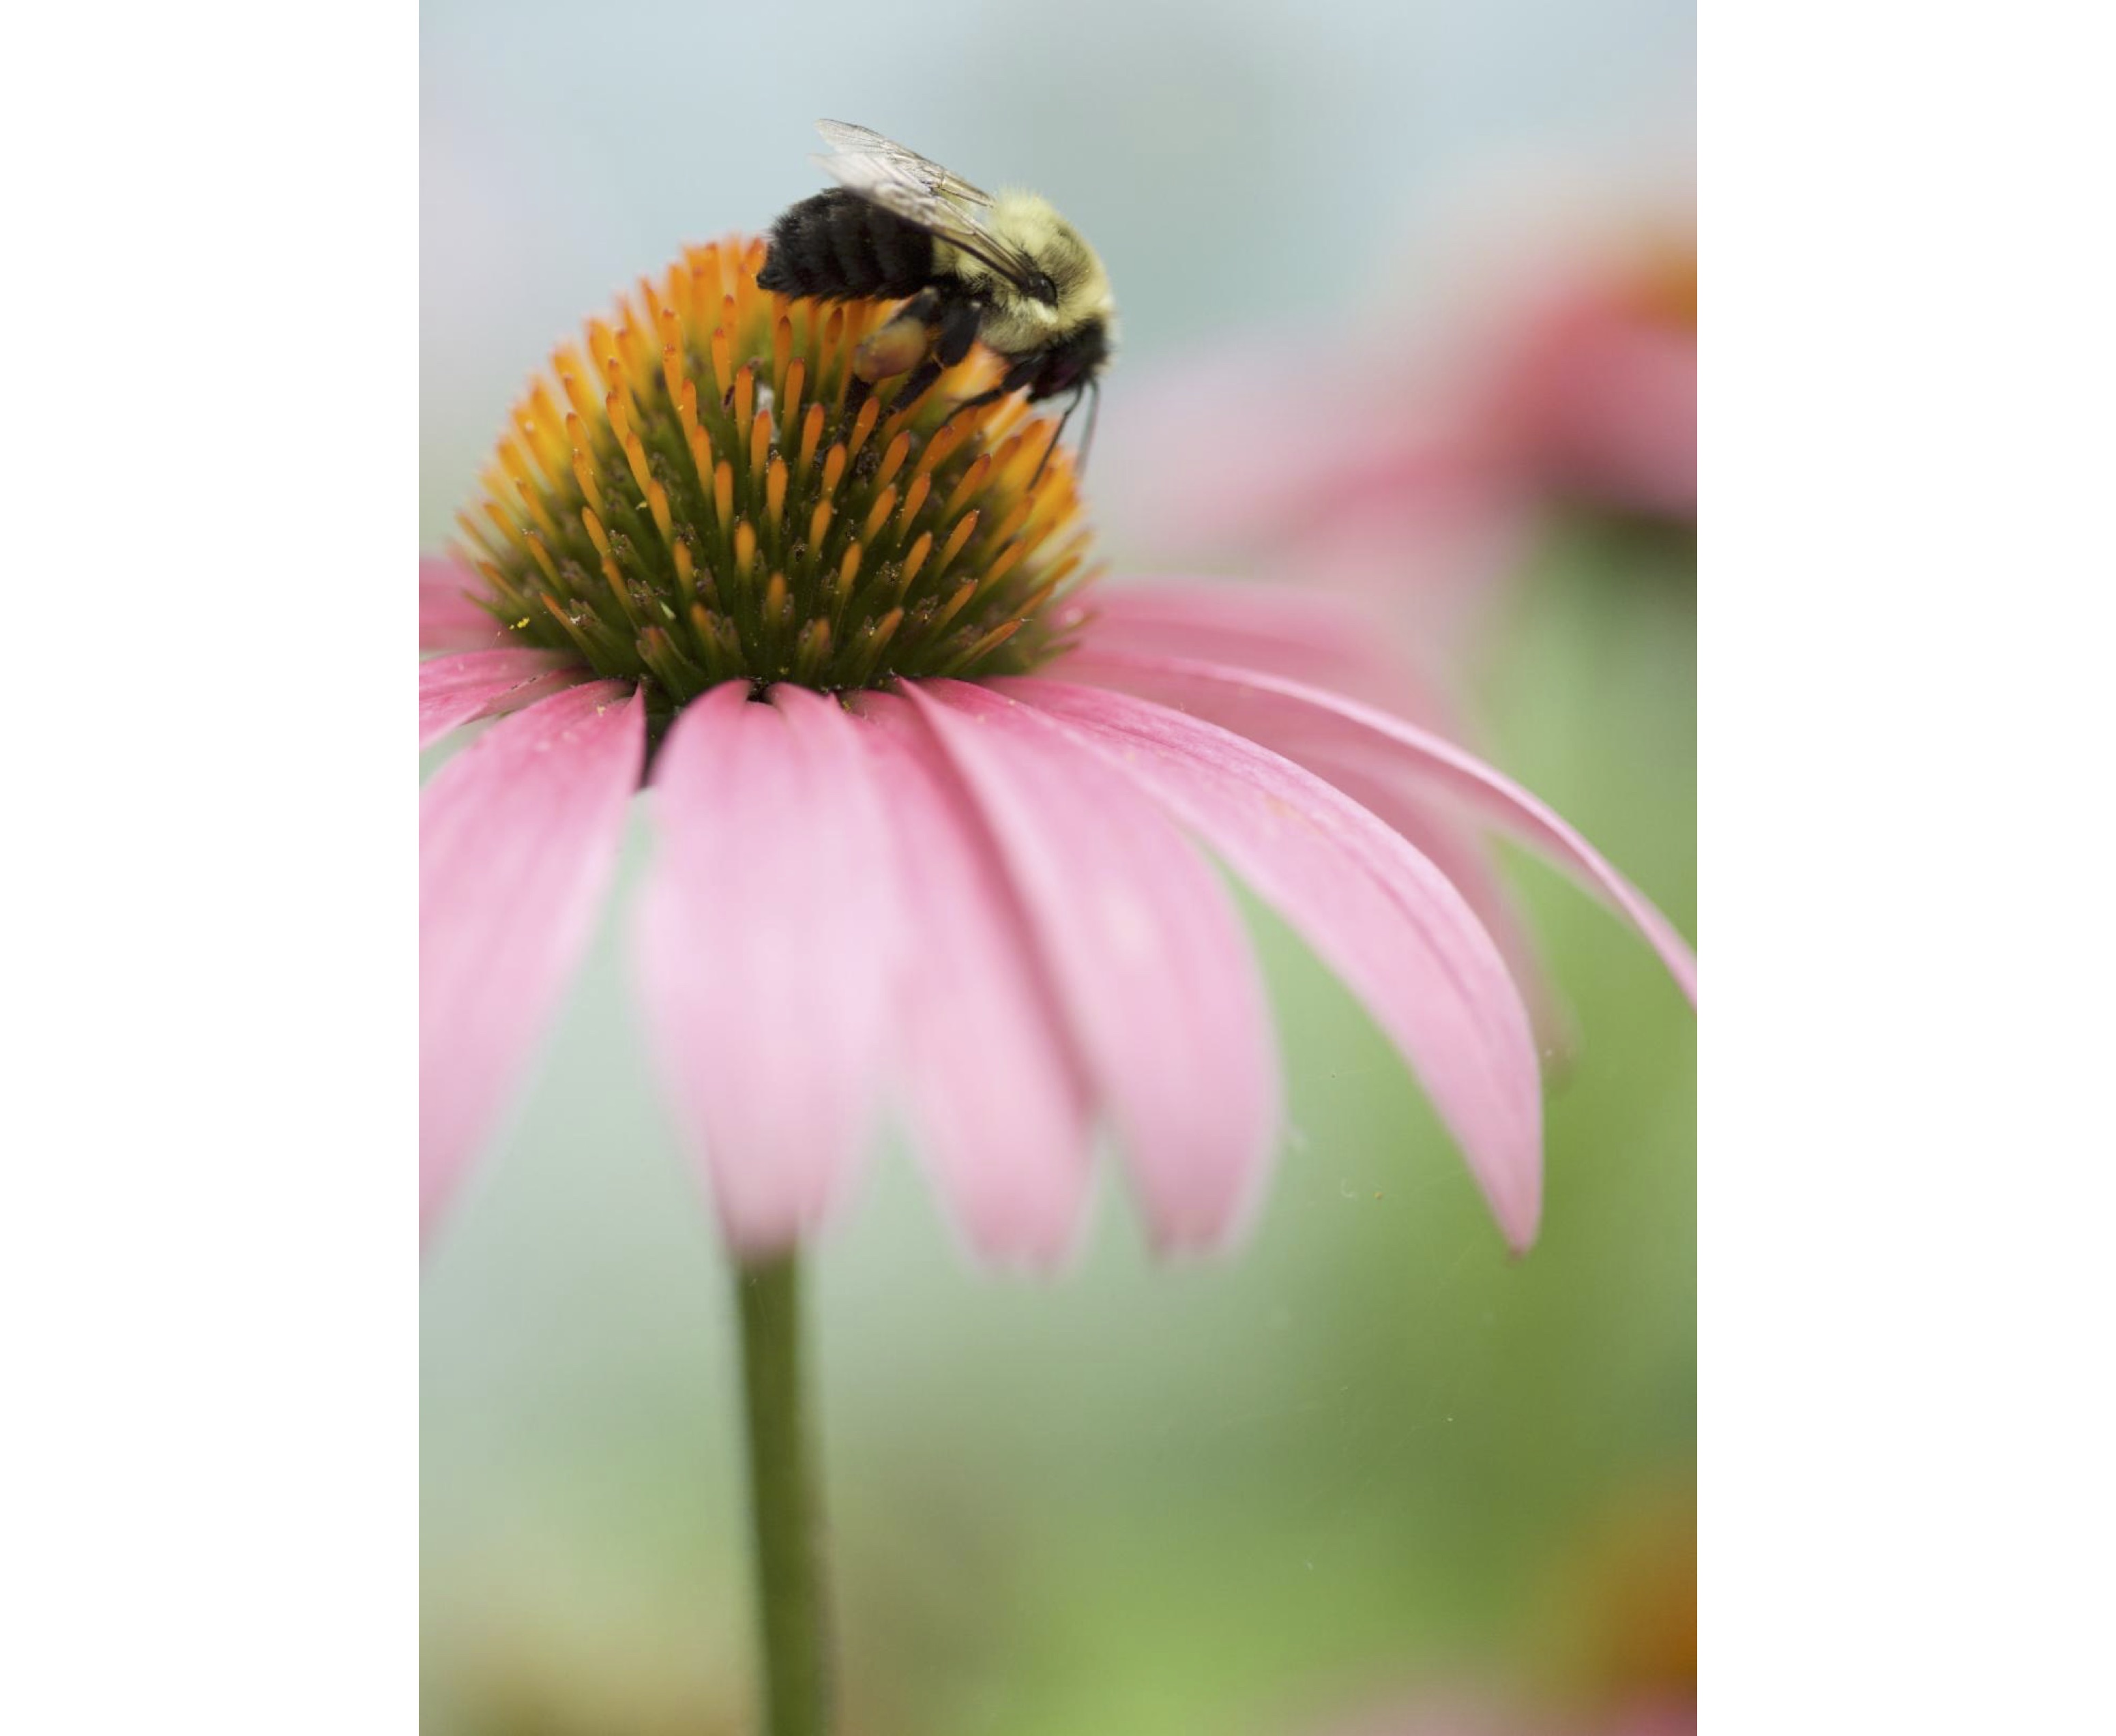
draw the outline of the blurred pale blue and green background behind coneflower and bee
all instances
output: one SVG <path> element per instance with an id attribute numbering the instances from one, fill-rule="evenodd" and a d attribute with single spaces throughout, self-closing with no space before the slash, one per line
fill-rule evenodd
<path id="1" fill-rule="evenodd" d="M 557 339 L 859 121 L 1102 252 L 1121 576 L 1361 593 L 1695 936 L 1693 64 L 1684 0 L 427 0 L 423 546 Z M 851 1736 L 1686 1715 L 1695 1020 L 1515 866 L 1579 1031 L 1521 1262 L 1265 912 L 1291 1133 L 1238 1258 L 1151 1266 L 1105 1186 L 1077 1270 L 995 1281 L 874 1167 L 813 1262 Z M 749 1728 L 730 1272 L 620 921 L 425 1279 L 440 1736 Z"/>

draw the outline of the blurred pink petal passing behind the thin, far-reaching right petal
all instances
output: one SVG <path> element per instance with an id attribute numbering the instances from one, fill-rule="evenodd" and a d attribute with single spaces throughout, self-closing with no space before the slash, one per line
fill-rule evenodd
<path id="1" fill-rule="evenodd" d="M 1130 586 L 1100 584 L 1075 601 L 1071 612 L 1081 620 L 1079 644 L 1090 652 L 1183 656 L 1257 669 L 1361 699 L 1443 737 L 1460 737 L 1443 697 L 1416 667 L 1375 639 L 1369 610 L 1344 599 L 1284 586 L 1179 578 Z M 1073 667 L 1060 663 L 1052 673 L 1064 677 Z M 1092 677 L 1092 665 L 1086 665 L 1086 673 Z M 1253 739 L 1274 754 L 1308 764 L 1270 735 Z M 1310 764 L 1310 771 L 1316 766 Z M 1384 779 L 1342 766 L 1333 766 L 1325 777 L 1403 832 L 1420 855 L 1456 883 L 1498 942 L 1513 980 L 1528 999 L 1545 1052 L 1568 1052 L 1572 1023 L 1536 957 L 1534 940 L 1498 874 L 1483 830 L 1452 807 L 1418 800 L 1416 792 Z"/>

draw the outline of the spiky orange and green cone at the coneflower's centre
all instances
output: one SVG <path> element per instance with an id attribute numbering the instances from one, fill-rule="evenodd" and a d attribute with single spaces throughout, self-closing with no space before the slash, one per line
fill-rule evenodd
<path id="1" fill-rule="evenodd" d="M 671 713 L 728 680 L 842 690 L 1005 675 L 1062 648 L 1088 529 L 1066 451 L 984 351 L 912 404 L 853 351 L 891 303 L 758 288 L 764 241 L 690 248 L 561 345 L 457 514 L 523 646 Z M 1041 466 L 1041 474 L 1039 472 Z M 1077 618 L 1069 612 L 1066 618 Z"/>

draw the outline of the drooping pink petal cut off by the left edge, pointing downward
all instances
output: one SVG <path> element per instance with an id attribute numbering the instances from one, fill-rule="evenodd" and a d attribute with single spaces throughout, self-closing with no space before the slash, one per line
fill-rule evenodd
<path id="1" fill-rule="evenodd" d="M 609 885 L 645 707 L 590 682 L 504 718 L 419 807 L 419 1194 L 434 1213 L 550 1020 Z"/>

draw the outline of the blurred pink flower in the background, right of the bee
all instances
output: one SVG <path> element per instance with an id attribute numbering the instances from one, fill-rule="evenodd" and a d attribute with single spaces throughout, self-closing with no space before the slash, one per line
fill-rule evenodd
<path id="1" fill-rule="evenodd" d="M 1689 201 L 1545 191 L 1500 231 L 1449 250 L 1479 260 L 1449 286 L 1403 271 L 1327 334 L 1128 379 L 1102 489 L 1126 559 L 1380 595 L 1445 648 L 1551 510 L 1695 519 Z"/>

